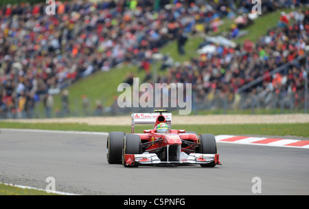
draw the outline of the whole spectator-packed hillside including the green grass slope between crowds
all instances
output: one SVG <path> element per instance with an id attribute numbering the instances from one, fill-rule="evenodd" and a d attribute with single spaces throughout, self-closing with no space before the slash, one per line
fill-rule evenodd
<path id="1" fill-rule="evenodd" d="M 133 76 L 192 83 L 193 113 L 306 112 L 306 1 L 29 2 L 0 5 L 1 119 L 132 111 Z"/>

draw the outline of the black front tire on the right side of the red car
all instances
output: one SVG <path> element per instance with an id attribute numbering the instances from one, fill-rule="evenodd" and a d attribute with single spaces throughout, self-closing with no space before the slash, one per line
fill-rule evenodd
<path id="1" fill-rule="evenodd" d="M 216 154 L 217 153 L 217 143 L 216 138 L 212 134 L 202 134 L 199 135 L 198 139 L 200 140 L 201 146 L 199 152 L 203 154 Z M 214 167 L 215 163 L 210 164 L 201 164 L 202 167 Z"/>

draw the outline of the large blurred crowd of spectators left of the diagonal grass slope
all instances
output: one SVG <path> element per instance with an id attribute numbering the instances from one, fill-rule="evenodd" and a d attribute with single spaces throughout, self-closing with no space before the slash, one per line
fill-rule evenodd
<path id="1" fill-rule="evenodd" d="M 57 1 L 56 15 L 45 14 L 45 3 L 3 5 L 1 118 L 12 118 L 16 111 L 32 118 L 36 102 L 48 110 L 52 95 L 79 78 L 120 63 L 150 60 L 176 37 L 177 28 L 194 21 L 183 6 L 157 2 Z"/>

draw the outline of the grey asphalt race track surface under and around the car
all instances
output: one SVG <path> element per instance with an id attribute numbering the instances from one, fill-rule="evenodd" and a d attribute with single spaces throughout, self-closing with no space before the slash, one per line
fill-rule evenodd
<path id="1" fill-rule="evenodd" d="M 1 129 L 0 182 L 80 195 L 309 195 L 309 149 L 218 143 L 222 166 L 106 161 L 106 134 Z"/>

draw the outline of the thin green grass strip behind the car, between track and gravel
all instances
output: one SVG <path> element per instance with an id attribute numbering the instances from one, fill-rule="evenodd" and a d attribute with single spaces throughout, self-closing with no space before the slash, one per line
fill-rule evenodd
<path id="1" fill-rule="evenodd" d="M 295 124 L 211 124 L 211 125 L 173 125 L 172 129 L 185 129 L 196 133 L 212 133 L 214 135 L 295 135 L 309 137 L 309 123 Z M 60 131 L 124 131 L 130 133 L 130 126 L 88 125 L 80 123 L 21 123 L 0 122 L 3 129 L 43 129 Z M 137 125 L 135 133 L 142 133 L 152 126 Z"/>

